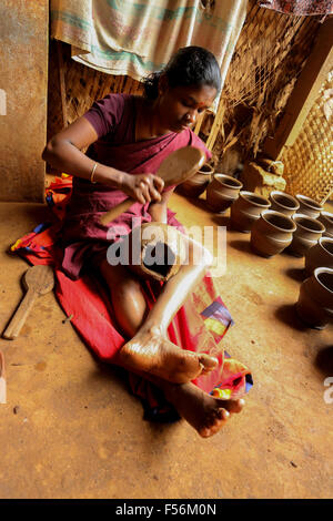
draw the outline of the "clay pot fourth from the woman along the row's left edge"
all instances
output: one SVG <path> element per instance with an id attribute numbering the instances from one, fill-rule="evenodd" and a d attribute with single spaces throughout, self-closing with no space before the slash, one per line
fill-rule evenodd
<path id="1" fill-rule="evenodd" d="M 263 257 L 272 257 L 291 244 L 295 229 L 295 223 L 286 215 L 264 210 L 252 226 L 251 247 Z"/>

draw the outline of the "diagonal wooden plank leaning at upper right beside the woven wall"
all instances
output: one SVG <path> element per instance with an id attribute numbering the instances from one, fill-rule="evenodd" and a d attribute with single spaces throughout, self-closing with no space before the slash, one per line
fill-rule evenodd
<path id="1" fill-rule="evenodd" d="M 313 51 L 295 83 L 275 135 L 264 142 L 263 152 L 269 157 L 279 160 L 284 146 L 293 145 L 332 67 L 333 19 L 329 18 L 319 30 Z"/>

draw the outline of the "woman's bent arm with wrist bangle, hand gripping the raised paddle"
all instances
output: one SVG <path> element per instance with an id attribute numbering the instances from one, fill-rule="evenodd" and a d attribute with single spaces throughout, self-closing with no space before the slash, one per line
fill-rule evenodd
<path id="1" fill-rule="evenodd" d="M 62 172 L 90 180 L 95 161 L 83 154 L 81 150 L 97 140 L 94 127 L 82 116 L 49 141 L 42 159 Z M 130 175 L 98 163 L 93 178 L 112 188 L 121 190 L 142 204 L 161 200 L 163 181 L 153 174 Z"/>

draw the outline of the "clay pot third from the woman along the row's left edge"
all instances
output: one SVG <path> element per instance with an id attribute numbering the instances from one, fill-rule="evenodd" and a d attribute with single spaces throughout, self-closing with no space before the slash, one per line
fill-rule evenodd
<path id="1" fill-rule="evenodd" d="M 270 206 L 271 203 L 265 197 L 241 191 L 239 198 L 231 206 L 231 224 L 239 232 L 250 233 L 260 214 Z"/>

